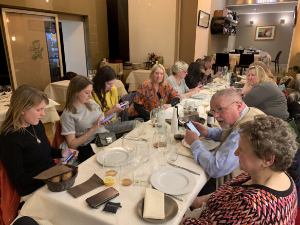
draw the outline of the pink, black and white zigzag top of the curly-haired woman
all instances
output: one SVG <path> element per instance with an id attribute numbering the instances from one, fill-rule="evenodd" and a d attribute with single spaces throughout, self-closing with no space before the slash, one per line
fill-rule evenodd
<path id="1" fill-rule="evenodd" d="M 297 194 L 289 178 L 288 190 L 275 191 L 259 184 L 242 185 L 251 179 L 242 173 L 212 194 L 200 218 L 186 218 L 183 224 L 294 224 Z"/>

